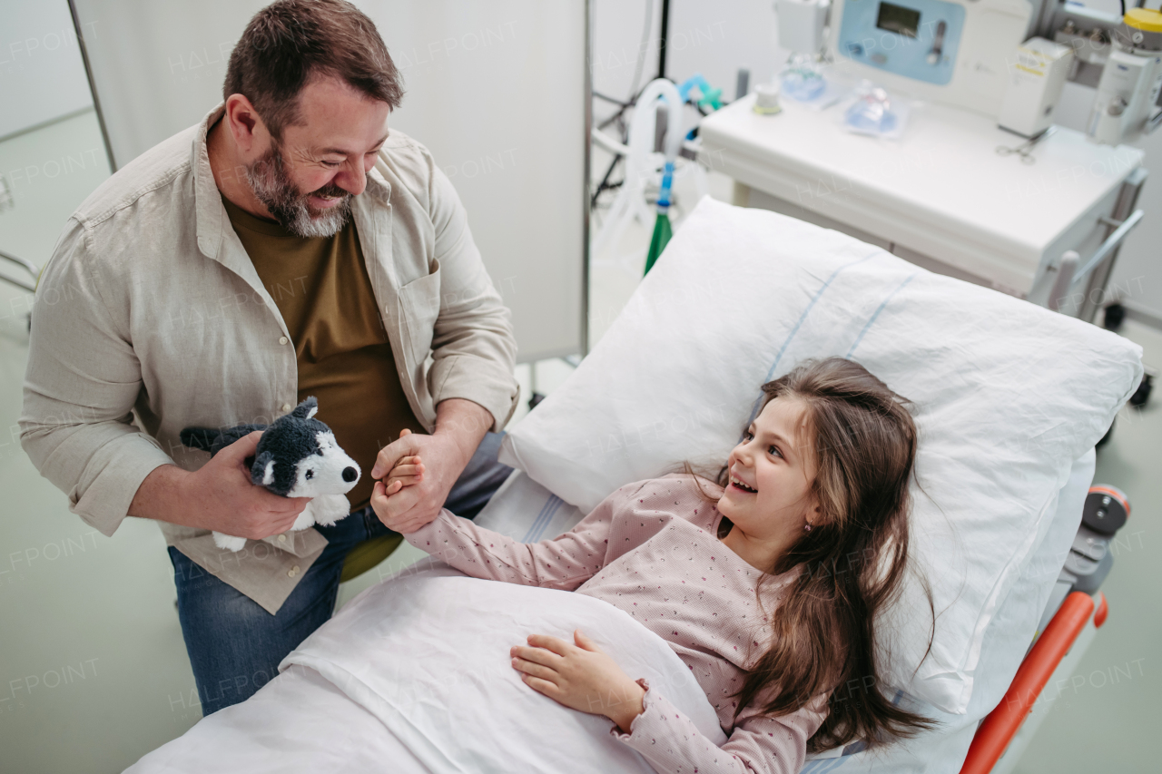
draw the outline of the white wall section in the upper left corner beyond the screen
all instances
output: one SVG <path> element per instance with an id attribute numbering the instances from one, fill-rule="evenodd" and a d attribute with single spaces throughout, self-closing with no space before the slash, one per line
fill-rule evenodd
<path id="1" fill-rule="evenodd" d="M 93 105 L 65 0 L 0 0 L 0 137 Z"/>

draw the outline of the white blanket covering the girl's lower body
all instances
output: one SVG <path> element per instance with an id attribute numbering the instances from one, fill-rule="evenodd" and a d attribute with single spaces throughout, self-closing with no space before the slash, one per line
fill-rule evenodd
<path id="1" fill-rule="evenodd" d="M 352 600 L 250 700 L 202 719 L 128 772 L 652 774 L 609 733 L 608 719 L 533 691 L 510 666 L 509 648 L 526 636 L 571 638 L 578 628 L 715 744 L 725 741 L 689 669 L 621 610 L 424 561 Z"/>

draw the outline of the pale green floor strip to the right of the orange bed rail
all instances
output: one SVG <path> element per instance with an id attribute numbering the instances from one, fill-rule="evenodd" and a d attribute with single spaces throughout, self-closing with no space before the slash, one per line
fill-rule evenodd
<path id="1" fill-rule="evenodd" d="M 1141 344 L 1147 365 L 1162 365 L 1162 331 L 1127 321 L 1121 334 Z M 1070 682 L 1046 691 L 1052 709 L 1018 762 L 1019 774 L 1159 771 L 1149 740 L 1162 721 L 1160 397 L 1155 390 L 1145 409 L 1124 407 L 1110 443 L 1098 451 L 1093 483 L 1118 487 L 1131 504 L 1102 585 L 1110 617 Z"/>

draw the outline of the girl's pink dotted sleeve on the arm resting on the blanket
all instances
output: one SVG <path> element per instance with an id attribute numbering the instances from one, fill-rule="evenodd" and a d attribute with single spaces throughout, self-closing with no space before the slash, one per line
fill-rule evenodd
<path id="1" fill-rule="evenodd" d="M 822 696 L 779 717 L 747 707 L 719 747 L 646 680 L 638 683 L 646 689 L 644 711 L 633 718 L 630 733 L 616 725 L 610 733 L 639 752 L 659 774 L 795 774 L 806 759 L 808 739 L 825 717 Z"/>

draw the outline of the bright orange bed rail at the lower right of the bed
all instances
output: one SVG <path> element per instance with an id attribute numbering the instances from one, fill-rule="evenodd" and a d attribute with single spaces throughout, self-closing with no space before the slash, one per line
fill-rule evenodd
<path id="1" fill-rule="evenodd" d="M 1099 594 L 1099 611 L 1104 614 L 1105 596 Z M 1083 592 L 1074 592 L 1066 597 L 1033 645 L 1033 650 L 1021 661 L 1005 697 L 976 730 L 960 774 L 988 774 L 992 771 L 1025 722 L 1025 717 L 1032 711 L 1033 703 L 1041 695 L 1057 664 L 1073 647 L 1077 635 L 1093 615 L 1093 597 Z M 1104 622 L 1103 615 L 1102 623 Z"/>

